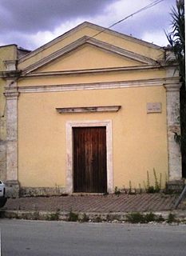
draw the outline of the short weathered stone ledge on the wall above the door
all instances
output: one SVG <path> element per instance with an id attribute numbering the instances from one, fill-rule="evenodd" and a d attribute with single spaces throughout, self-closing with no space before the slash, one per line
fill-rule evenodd
<path id="1" fill-rule="evenodd" d="M 90 112 L 117 112 L 121 106 L 82 106 L 56 108 L 59 114 L 66 113 L 90 113 Z"/>

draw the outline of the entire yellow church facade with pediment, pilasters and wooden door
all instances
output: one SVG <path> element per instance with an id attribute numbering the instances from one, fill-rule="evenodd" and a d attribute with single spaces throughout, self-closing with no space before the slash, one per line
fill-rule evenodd
<path id="1" fill-rule="evenodd" d="M 84 22 L 5 59 L 7 193 L 113 193 L 144 188 L 147 172 L 179 181 L 180 78 L 166 56 Z"/>

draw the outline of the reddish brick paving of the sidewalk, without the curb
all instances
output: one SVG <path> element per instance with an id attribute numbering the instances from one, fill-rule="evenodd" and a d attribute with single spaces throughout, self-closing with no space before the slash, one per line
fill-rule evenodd
<path id="1" fill-rule="evenodd" d="M 36 198 L 10 198 L 7 210 L 61 210 L 65 212 L 146 212 L 173 210 L 178 195 L 170 194 L 109 194 L 73 195 Z M 180 210 L 186 206 L 180 204 Z"/>

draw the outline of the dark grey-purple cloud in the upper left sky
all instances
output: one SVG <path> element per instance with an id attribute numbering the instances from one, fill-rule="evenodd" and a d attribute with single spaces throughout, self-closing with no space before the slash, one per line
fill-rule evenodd
<path id="1" fill-rule="evenodd" d="M 53 30 L 74 17 L 103 14 L 105 6 L 116 0 L 1 0 L 0 30 L 37 33 Z"/>

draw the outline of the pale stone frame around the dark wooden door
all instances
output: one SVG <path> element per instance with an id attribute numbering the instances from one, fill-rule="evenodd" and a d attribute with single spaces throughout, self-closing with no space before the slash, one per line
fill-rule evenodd
<path id="1" fill-rule="evenodd" d="M 113 134 L 112 120 L 66 122 L 66 186 L 67 194 L 73 193 L 73 127 L 106 127 L 107 192 L 113 193 Z"/>

